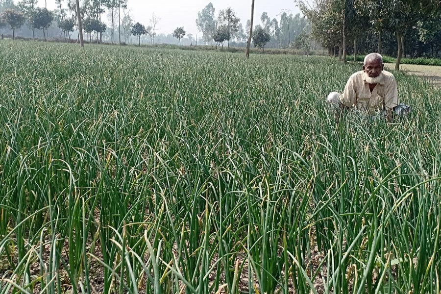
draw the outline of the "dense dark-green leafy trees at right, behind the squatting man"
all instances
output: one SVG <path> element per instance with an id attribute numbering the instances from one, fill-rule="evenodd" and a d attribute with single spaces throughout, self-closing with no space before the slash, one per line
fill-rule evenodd
<path id="1" fill-rule="evenodd" d="M 298 0 L 312 36 L 346 62 L 347 53 L 376 51 L 401 58 L 441 56 L 439 0 Z"/>

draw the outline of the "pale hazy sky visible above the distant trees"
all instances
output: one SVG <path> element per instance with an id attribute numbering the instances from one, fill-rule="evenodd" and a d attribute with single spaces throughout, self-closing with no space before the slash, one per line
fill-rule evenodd
<path id="1" fill-rule="evenodd" d="M 47 0 L 48 9 L 56 9 L 55 0 Z M 172 33 L 178 26 L 184 26 L 187 33 L 201 36 L 196 26 L 197 12 L 202 10 L 210 0 L 127 0 L 128 9 L 134 22 L 149 25 L 151 15 L 161 20 L 157 25 L 157 33 Z M 251 0 L 211 0 L 216 9 L 216 17 L 219 11 L 231 7 L 241 19 L 245 27 L 246 20 L 251 16 Z M 45 5 L 45 0 L 39 0 L 39 5 Z M 67 8 L 66 2 L 64 2 Z M 283 9 L 291 10 L 293 14 L 299 12 L 294 0 L 255 0 L 254 3 L 254 25 L 260 24 L 262 12 L 268 12 L 271 19 L 280 20 L 278 15 Z"/>

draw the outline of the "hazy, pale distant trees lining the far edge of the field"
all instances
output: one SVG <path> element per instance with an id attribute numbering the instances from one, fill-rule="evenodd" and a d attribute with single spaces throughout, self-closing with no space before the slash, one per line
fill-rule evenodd
<path id="1" fill-rule="evenodd" d="M 61 31 L 66 41 L 70 40 L 72 33 L 78 28 L 78 13 L 82 21 L 82 31 L 86 34 L 85 39 L 89 42 L 103 42 L 106 36 L 107 42 L 126 44 L 131 42 L 131 36 L 137 37 L 137 43 L 141 41 L 155 43 L 155 38 L 162 43 L 172 43 L 173 38 L 181 44 L 184 36 L 185 44 L 191 45 L 194 42 L 213 44 L 220 46 L 226 44 L 227 48 L 231 43 L 235 47 L 245 47 L 249 34 L 250 21 L 242 24 L 236 16 L 236 12 L 228 7 L 215 15 L 215 8 L 209 3 L 197 15 L 196 25 L 201 32 L 202 38 L 198 40 L 193 34 L 183 34 L 185 29 L 179 33 L 173 31 L 171 34 L 157 33 L 157 25 L 160 21 L 154 14 L 148 25 L 134 23 L 130 10 L 127 9 L 127 0 L 81 0 L 79 11 L 76 0 L 54 0 L 57 9 L 49 11 L 46 7 L 37 7 L 37 0 L 20 0 L 17 5 L 12 0 L 0 0 L 0 26 L 9 27 L 12 37 L 15 39 L 16 31 L 24 26 L 31 29 L 32 39 L 36 38 L 36 30 L 43 32 L 44 39 L 47 39 L 49 28 Z M 47 1 L 45 2 L 47 3 Z M 280 18 L 270 18 L 267 12 L 260 17 L 261 24 L 256 25 L 252 35 L 252 41 L 256 47 L 291 49 L 298 48 L 294 44 L 296 38 L 303 33 L 309 36 L 309 25 L 300 14 L 293 15 L 288 12 L 280 14 Z M 108 25 L 107 25 L 108 24 Z M 22 29 L 23 30 L 23 29 Z M 116 33 L 116 37 L 115 37 Z M 199 35 L 200 36 L 200 35 Z M 75 37 L 79 39 L 79 34 Z"/>

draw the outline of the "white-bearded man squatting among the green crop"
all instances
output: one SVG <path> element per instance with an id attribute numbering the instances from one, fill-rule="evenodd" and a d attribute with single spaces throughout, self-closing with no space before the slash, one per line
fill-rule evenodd
<path id="1" fill-rule="evenodd" d="M 337 115 L 341 110 L 356 109 L 375 118 L 380 111 L 388 122 L 391 122 L 393 113 L 405 117 L 411 111 L 409 106 L 399 103 L 395 77 L 384 70 L 383 57 L 378 53 L 366 55 L 363 71 L 351 75 L 343 95 L 330 93 L 327 103 L 338 112 Z"/>

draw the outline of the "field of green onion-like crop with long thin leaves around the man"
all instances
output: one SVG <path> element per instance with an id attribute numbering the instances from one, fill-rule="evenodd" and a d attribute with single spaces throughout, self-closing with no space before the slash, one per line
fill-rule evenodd
<path id="1" fill-rule="evenodd" d="M 0 293 L 440 293 L 441 91 L 332 59 L 0 43 Z"/>

